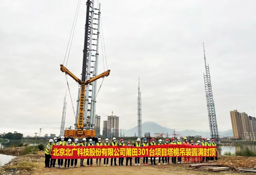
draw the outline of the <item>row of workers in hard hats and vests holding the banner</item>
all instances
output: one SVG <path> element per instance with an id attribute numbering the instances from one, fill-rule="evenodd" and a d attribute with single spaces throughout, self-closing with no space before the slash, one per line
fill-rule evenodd
<path id="1" fill-rule="evenodd" d="M 117 139 L 114 137 L 112 139 L 112 143 L 109 143 L 108 138 L 105 139 L 105 143 L 103 144 L 101 142 L 101 138 L 98 138 L 98 143 L 95 144 L 95 146 L 125 146 L 124 140 L 123 138 L 121 138 L 120 143 L 117 143 Z M 55 137 L 54 139 L 50 139 L 49 143 L 46 145 L 46 150 L 45 150 L 45 168 L 51 168 L 51 167 L 55 167 L 56 164 L 56 159 L 51 159 L 51 155 L 52 155 L 52 149 L 53 149 L 53 145 L 61 145 L 61 146 L 94 146 L 92 139 L 89 139 L 89 143 L 86 142 L 86 138 L 83 138 L 82 143 L 78 143 L 78 139 L 76 138 L 74 143 L 72 143 L 71 139 L 68 139 L 68 141 L 64 141 L 64 136 L 61 136 L 61 141 L 57 141 L 57 138 Z M 148 143 L 147 139 L 144 138 L 143 142 L 141 143 L 141 139 L 138 138 L 134 144 L 135 147 L 143 147 L 143 146 L 154 146 L 154 145 L 162 145 L 162 144 L 183 144 L 183 145 L 197 145 L 197 146 L 216 146 L 217 144 L 215 143 L 215 140 L 212 139 L 212 141 L 210 141 L 209 138 L 207 138 L 207 140 L 205 141 L 205 138 L 202 138 L 202 141 L 198 140 L 196 144 L 194 144 L 194 141 L 191 140 L 190 143 L 187 140 L 187 137 L 184 137 L 184 142 L 182 143 L 181 138 L 177 138 L 177 141 L 175 140 L 174 137 L 171 138 L 171 141 L 169 143 L 169 139 L 166 138 L 165 143 L 163 143 L 163 141 L 161 139 L 159 139 L 158 144 L 155 142 L 154 138 L 151 138 L 150 143 Z M 127 146 L 131 146 L 131 143 L 128 141 L 127 142 Z M 190 161 L 191 158 L 191 161 Z M 197 158 L 197 160 L 196 160 Z M 164 165 L 169 164 L 169 160 L 170 157 L 159 157 L 158 158 L 158 165 L 160 165 L 162 160 L 162 163 Z M 119 166 L 123 166 L 123 161 L 124 158 L 123 157 L 119 157 L 118 158 L 118 162 L 119 162 Z M 130 166 L 131 166 L 131 161 L 132 161 L 132 157 L 126 157 L 126 166 L 128 166 L 128 162 L 130 161 Z M 176 157 L 171 157 L 171 161 L 172 164 L 180 164 L 182 163 L 182 157 L 177 157 L 177 162 L 176 162 Z M 212 162 L 214 161 L 214 157 L 184 157 L 184 163 L 187 162 Z M 218 161 L 218 157 L 215 157 L 215 161 Z M 117 158 L 110 158 L 110 165 L 113 166 L 113 162 L 114 162 L 114 166 L 117 166 Z M 150 162 L 151 165 L 156 165 L 156 157 L 150 157 Z M 104 166 L 109 166 L 108 165 L 108 158 L 104 158 L 103 159 L 103 164 Z M 71 166 L 71 168 L 77 167 L 77 159 L 65 159 L 64 162 L 64 169 L 69 168 L 69 166 Z M 135 166 L 139 166 L 139 157 L 135 157 Z M 143 157 L 143 165 L 149 165 L 148 164 L 148 157 Z M 62 168 L 63 166 L 63 159 L 58 159 L 57 162 L 57 167 Z M 93 166 L 92 163 L 92 159 L 87 159 L 87 166 Z M 101 159 L 96 159 L 96 166 L 101 166 Z M 80 159 L 80 167 L 85 167 L 84 165 L 84 159 Z"/>

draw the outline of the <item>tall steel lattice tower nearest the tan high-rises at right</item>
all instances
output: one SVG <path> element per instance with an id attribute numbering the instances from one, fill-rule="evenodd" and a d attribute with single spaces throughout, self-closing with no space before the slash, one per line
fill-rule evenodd
<path id="1" fill-rule="evenodd" d="M 217 120 L 216 120 L 214 100 L 212 95 L 210 69 L 209 69 L 209 64 L 206 64 L 204 43 L 203 43 L 203 55 L 204 55 L 205 72 L 206 72 L 205 74 L 203 73 L 203 78 L 205 82 L 205 94 L 206 94 L 206 102 L 207 102 L 207 110 L 208 110 L 208 118 L 209 118 L 210 135 L 211 135 L 211 138 L 218 139 L 219 133 L 218 133 Z"/>

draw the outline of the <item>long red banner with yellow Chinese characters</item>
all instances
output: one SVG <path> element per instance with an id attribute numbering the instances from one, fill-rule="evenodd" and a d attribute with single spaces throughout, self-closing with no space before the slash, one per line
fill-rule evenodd
<path id="1" fill-rule="evenodd" d="M 53 159 L 113 157 L 216 157 L 215 146 L 163 144 L 154 146 L 53 146 Z"/>

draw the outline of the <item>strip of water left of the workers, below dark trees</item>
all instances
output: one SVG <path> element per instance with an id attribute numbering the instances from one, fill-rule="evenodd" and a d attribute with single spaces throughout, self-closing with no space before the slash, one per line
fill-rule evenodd
<path id="1" fill-rule="evenodd" d="M 47 144 L 48 140 L 9 140 L 8 142 L 0 142 L 0 148 L 15 147 L 24 143 L 28 144 L 28 146 L 36 146 L 38 144 Z"/>

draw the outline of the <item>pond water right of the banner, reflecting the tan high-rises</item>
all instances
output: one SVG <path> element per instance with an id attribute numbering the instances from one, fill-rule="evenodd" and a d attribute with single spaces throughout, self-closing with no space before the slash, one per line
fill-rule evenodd
<path id="1" fill-rule="evenodd" d="M 256 153 L 256 145 L 255 144 L 239 144 L 233 146 L 218 146 L 218 154 L 223 155 L 226 152 L 230 152 L 231 154 L 235 154 L 236 151 L 244 151 L 246 148 L 249 148 L 251 151 Z"/>

